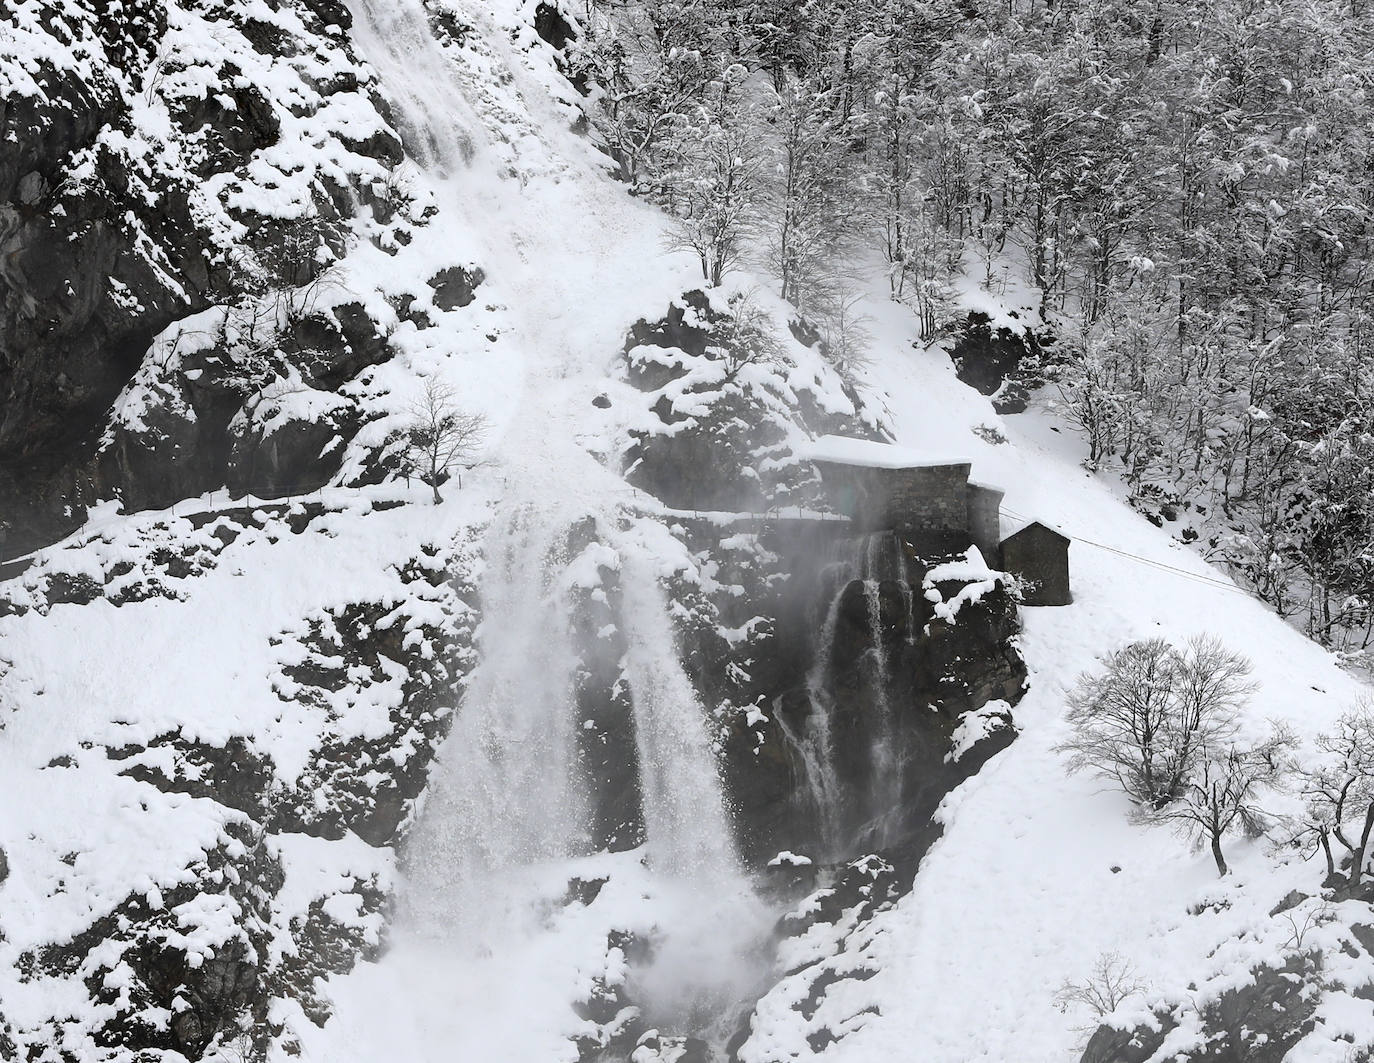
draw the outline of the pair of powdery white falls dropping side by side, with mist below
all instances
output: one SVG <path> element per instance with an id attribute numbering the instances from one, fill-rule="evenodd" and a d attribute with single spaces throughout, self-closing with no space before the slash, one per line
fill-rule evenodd
<path id="1" fill-rule="evenodd" d="M 589 648 L 577 645 L 572 624 L 574 523 L 558 507 L 525 504 L 506 507 L 488 529 L 478 663 L 405 853 L 400 933 L 507 978 L 510 957 L 539 955 L 541 937 L 558 933 L 561 897 L 592 851 L 600 781 L 577 754 L 576 680 Z M 632 902 L 603 917 L 622 919 L 639 941 L 627 987 L 644 1020 L 723 1044 L 763 990 L 776 912 L 742 869 L 671 600 L 632 544 L 614 556 L 646 839 L 631 862 L 610 865 L 625 878 L 607 890 Z M 455 986 L 482 981 L 473 970 Z M 519 978 L 508 990 L 517 996 Z"/>

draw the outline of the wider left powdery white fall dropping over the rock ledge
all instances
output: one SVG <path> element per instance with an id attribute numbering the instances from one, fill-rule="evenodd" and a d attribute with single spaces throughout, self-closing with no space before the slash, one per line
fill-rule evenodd
<path id="1" fill-rule="evenodd" d="M 506 893 L 503 872 L 587 845 L 577 652 L 559 580 L 566 537 L 566 523 L 533 505 L 510 507 L 489 527 L 478 665 L 408 845 L 414 915 L 478 948 L 500 933 L 491 901 Z"/>

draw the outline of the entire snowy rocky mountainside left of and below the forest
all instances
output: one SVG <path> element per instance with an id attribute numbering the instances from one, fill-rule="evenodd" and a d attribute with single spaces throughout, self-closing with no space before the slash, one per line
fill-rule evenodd
<path id="1" fill-rule="evenodd" d="M 1256 720 L 1356 684 L 896 304 L 841 375 L 769 284 L 702 291 L 574 11 L 0 19 L 0 1059 L 1065 1059 L 1106 952 L 1150 989 L 1096 1063 L 1359 1026 L 1363 901 L 1243 842 L 1219 886 L 1055 748 L 1080 669 L 1205 617 Z M 485 426 L 441 503 L 434 385 Z M 830 433 L 1113 552 L 1021 608 L 819 512 Z"/>

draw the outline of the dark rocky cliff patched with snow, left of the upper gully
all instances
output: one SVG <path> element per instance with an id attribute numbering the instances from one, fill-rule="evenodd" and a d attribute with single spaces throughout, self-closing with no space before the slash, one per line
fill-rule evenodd
<path id="1" fill-rule="evenodd" d="M 320 452 L 367 419 L 359 374 L 390 352 L 338 261 L 409 239 L 349 23 L 334 3 L 5 12 L 0 549 L 114 494 L 301 489 L 341 464 Z M 293 413 L 273 389 L 312 397 Z"/>

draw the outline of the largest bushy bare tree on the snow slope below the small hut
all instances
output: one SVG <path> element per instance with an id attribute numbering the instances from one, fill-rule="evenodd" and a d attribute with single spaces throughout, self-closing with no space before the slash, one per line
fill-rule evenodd
<path id="1" fill-rule="evenodd" d="M 1205 747 L 1235 732 L 1250 663 L 1213 636 L 1182 650 L 1149 639 L 1117 650 L 1106 670 L 1069 694 L 1069 770 L 1116 780 L 1132 801 L 1161 809 L 1183 794 Z"/>

